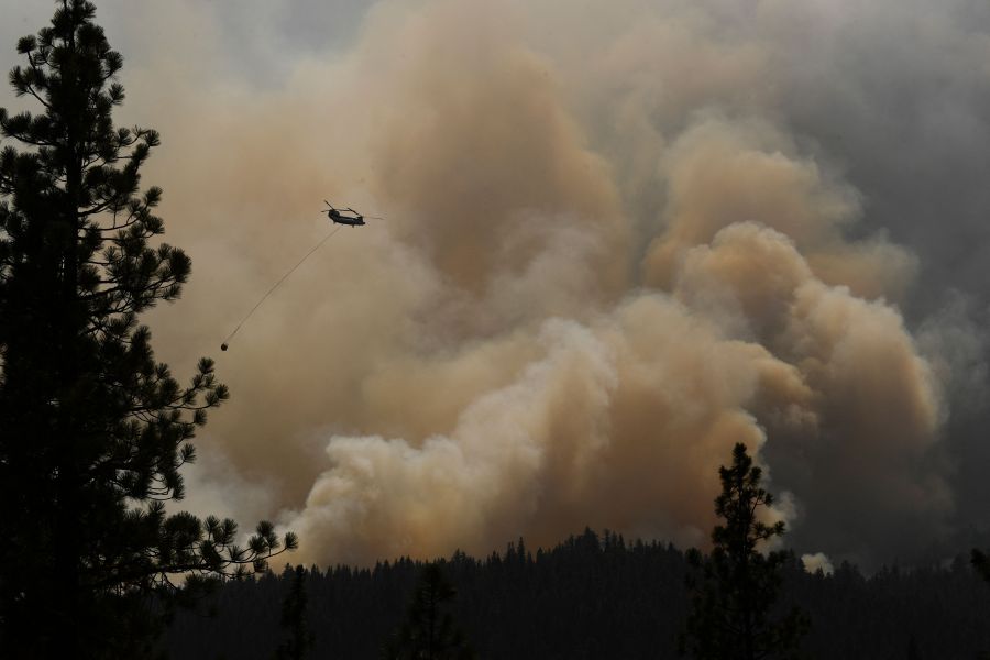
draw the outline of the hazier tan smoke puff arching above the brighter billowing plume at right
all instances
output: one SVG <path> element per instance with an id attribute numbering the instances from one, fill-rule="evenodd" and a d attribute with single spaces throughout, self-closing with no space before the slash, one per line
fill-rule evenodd
<path id="1" fill-rule="evenodd" d="M 882 237 L 845 241 L 843 230 L 861 212 L 856 191 L 795 151 L 763 121 L 696 121 L 664 158 L 669 223 L 647 253 L 646 280 L 670 286 L 684 250 L 735 222 L 758 221 L 790 237 L 824 282 L 867 298 L 902 298 L 914 258 Z"/>

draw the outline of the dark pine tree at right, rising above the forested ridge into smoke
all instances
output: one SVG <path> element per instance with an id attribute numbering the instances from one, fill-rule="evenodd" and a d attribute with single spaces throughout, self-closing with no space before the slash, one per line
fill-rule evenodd
<path id="1" fill-rule="evenodd" d="M 760 520 L 773 496 L 760 487 L 762 472 L 741 443 L 733 449 L 733 465 L 719 468 L 718 474 L 722 494 L 715 513 L 724 522 L 712 531 L 710 557 L 688 553 L 691 613 L 681 651 L 698 660 L 794 658 L 810 626 L 807 616 L 794 607 L 779 620 L 770 618 L 789 553 L 759 551 L 784 534 L 782 521 Z"/>

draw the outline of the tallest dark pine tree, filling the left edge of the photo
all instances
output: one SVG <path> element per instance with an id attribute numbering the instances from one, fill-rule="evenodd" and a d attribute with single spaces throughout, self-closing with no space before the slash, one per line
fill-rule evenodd
<path id="1" fill-rule="evenodd" d="M 162 190 L 142 191 L 140 170 L 158 134 L 113 125 L 122 58 L 95 12 L 56 2 L 10 73 L 38 113 L 0 108 L 0 648 L 11 657 L 138 657 L 150 608 L 296 543 L 263 522 L 242 549 L 232 520 L 165 510 L 184 495 L 189 440 L 228 391 L 208 359 L 179 385 L 138 322 L 178 298 L 190 261 L 157 242 Z"/>

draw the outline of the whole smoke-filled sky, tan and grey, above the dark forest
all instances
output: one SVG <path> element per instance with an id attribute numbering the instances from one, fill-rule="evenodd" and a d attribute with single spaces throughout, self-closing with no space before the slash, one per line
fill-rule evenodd
<path id="1" fill-rule="evenodd" d="M 814 565 L 990 528 L 983 0 L 97 6 L 193 257 L 154 345 L 232 393 L 191 510 L 302 563 L 704 547 L 745 442 Z M 0 10 L 10 68 L 51 8 Z M 384 220 L 221 353 L 323 199 Z"/>

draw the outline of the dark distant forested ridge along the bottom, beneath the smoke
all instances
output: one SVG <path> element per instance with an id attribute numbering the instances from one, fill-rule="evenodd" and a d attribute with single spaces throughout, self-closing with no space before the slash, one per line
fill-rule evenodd
<path id="1" fill-rule="evenodd" d="M 427 565 L 407 558 L 374 568 L 305 571 L 307 658 L 374 659 L 400 625 Z M 515 660 L 675 658 L 689 600 L 684 552 L 585 530 L 550 549 L 525 541 L 479 559 L 440 561 L 458 591 L 451 614 L 481 658 Z M 800 605 L 812 626 L 801 652 L 818 659 L 972 659 L 990 649 L 990 588 L 968 558 L 939 566 L 882 569 L 848 563 L 811 574 L 789 554 L 776 608 Z M 182 612 L 166 645 L 174 658 L 272 658 L 287 632 L 280 604 L 296 573 L 229 582 Z"/>

